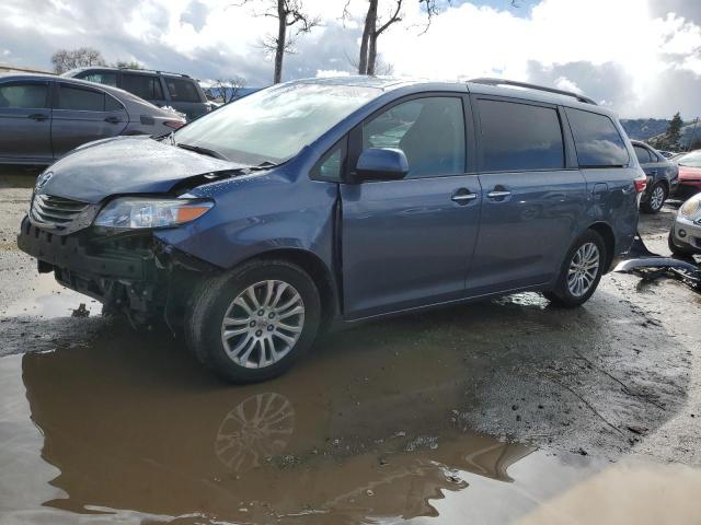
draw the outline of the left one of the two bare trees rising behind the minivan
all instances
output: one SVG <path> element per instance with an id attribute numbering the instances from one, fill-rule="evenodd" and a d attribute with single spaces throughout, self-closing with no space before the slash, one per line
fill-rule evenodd
<path id="1" fill-rule="evenodd" d="M 302 0 L 242 0 L 238 5 L 262 2 L 266 7 L 258 16 L 277 19 L 277 35 L 268 35 L 261 45 L 275 56 L 275 73 L 273 82 L 279 83 L 283 79 L 283 59 L 285 54 L 294 52 L 295 39 L 303 33 L 309 33 L 320 25 L 321 19 L 312 16 L 304 11 Z M 292 35 L 288 35 L 292 31 Z"/>

